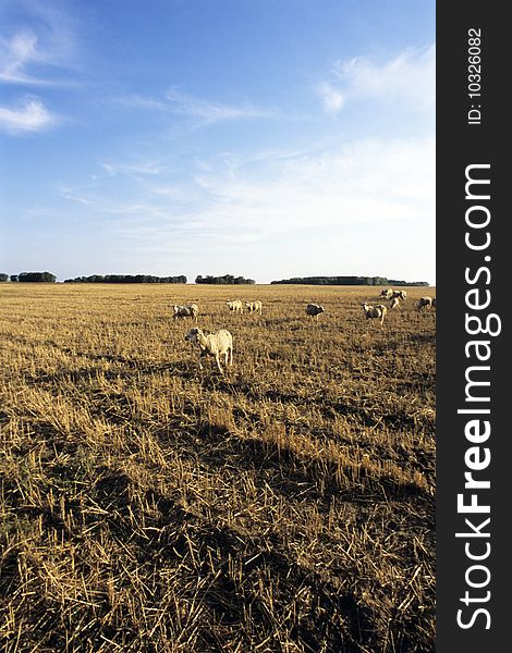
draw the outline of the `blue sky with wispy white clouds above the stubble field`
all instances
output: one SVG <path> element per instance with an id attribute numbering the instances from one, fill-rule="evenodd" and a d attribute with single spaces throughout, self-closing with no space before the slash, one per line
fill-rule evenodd
<path id="1" fill-rule="evenodd" d="M 435 2 L 0 0 L 0 272 L 435 284 Z"/>

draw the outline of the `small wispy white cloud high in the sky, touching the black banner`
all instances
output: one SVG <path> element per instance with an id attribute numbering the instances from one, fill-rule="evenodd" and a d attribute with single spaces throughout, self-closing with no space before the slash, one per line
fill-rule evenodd
<path id="1" fill-rule="evenodd" d="M 338 112 L 345 102 L 362 99 L 434 111 L 435 73 L 435 45 L 423 50 L 407 49 L 383 63 L 358 57 L 336 62 L 331 79 L 319 86 L 318 94 L 329 112 Z"/>

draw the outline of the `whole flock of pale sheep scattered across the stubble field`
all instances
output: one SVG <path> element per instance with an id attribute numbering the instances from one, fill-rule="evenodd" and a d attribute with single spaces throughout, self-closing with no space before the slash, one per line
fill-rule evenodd
<path id="1" fill-rule="evenodd" d="M 407 297 L 407 293 L 405 291 L 393 291 L 392 288 L 383 289 L 379 297 L 383 299 L 389 299 L 389 306 L 391 309 L 398 308 L 400 306 L 400 300 L 405 300 Z M 241 299 L 234 299 L 231 301 L 227 301 L 231 312 L 244 312 L 244 304 Z M 367 320 L 378 318 L 380 319 L 380 323 L 383 323 L 385 317 L 388 312 L 388 307 L 383 304 L 376 304 L 374 306 L 369 305 L 365 301 L 363 305 L 364 315 Z M 420 297 L 417 304 L 417 309 L 420 311 L 424 308 L 435 308 L 436 307 L 436 297 Z M 248 312 L 257 312 L 261 315 L 263 305 L 261 301 L 246 301 L 245 308 Z M 197 304 L 187 304 L 185 306 L 174 305 L 174 319 L 179 318 L 192 318 L 192 320 L 197 321 L 197 317 L 199 315 L 199 307 Z M 325 308 L 319 304 L 308 304 L 306 306 L 306 315 L 312 318 L 316 318 L 318 320 L 318 316 L 325 312 Z M 203 369 L 202 358 L 205 356 L 212 356 L 216 359 L 217 368 L 220 373 L 223 373 L 222 367 L 220 365 L 220 357 L 224 357 L 224 366 L 228 367 L 228 362 L 230 366 L 233 365 L 233 336 L 225 329 L 221 329 L 217 331 L 217 333 L 205 334 L 202 329 L 198 326 L 192 328 L 188 333 L 185 335 L 185 340 L 197 344 L 199 347 L 199 359 L 198 366 L 199 369 Z"/>

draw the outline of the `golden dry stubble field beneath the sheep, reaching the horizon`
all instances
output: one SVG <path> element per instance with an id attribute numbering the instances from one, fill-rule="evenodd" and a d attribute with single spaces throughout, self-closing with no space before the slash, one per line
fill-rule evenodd
<path id="1" fill-rule="evenodd" d="M 0 649 L 434 651 L 424 291 L 381 326 L 380 288 L 0 286 Z"/>

